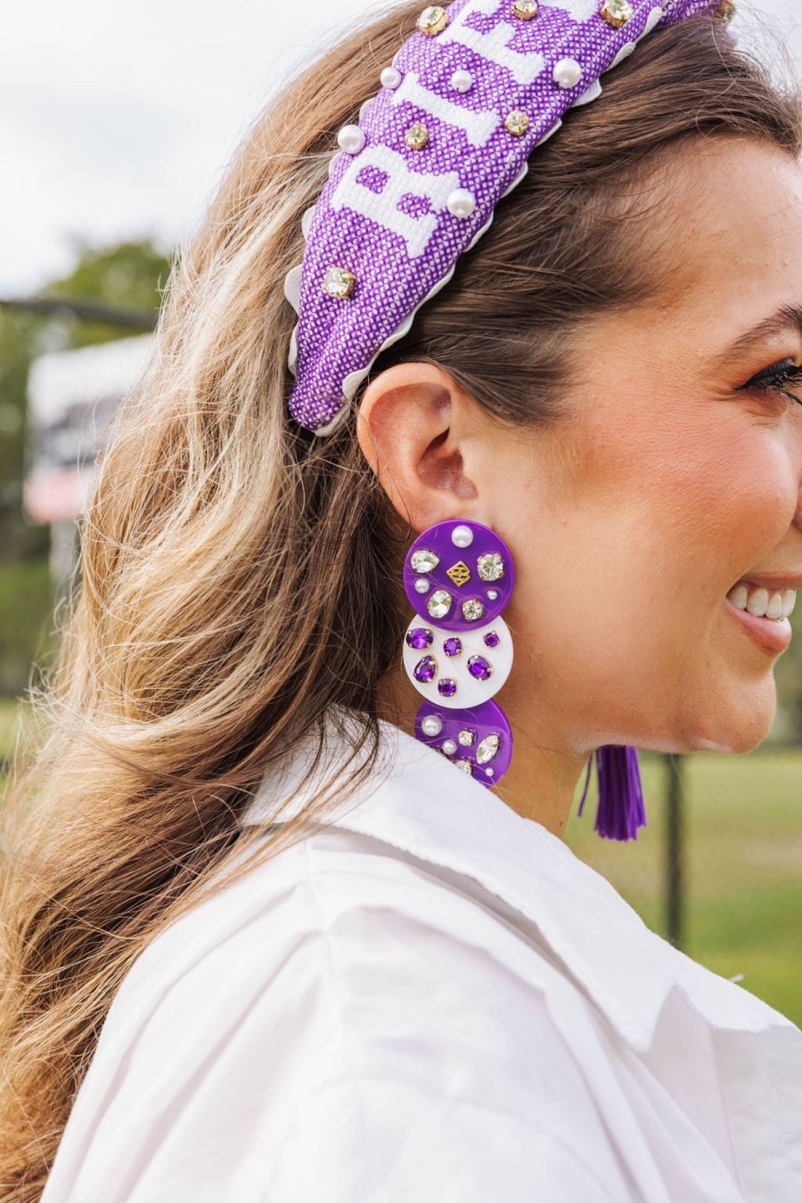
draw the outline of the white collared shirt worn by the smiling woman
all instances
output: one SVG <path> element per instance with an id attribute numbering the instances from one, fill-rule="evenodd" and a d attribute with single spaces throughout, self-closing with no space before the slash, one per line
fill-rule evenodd
<path id="1" fill-rule="evenodd" d="M 380 728 L 344 813 L 138 958 L 42 1203 L 800 1203 L 802 1032 Z"/>

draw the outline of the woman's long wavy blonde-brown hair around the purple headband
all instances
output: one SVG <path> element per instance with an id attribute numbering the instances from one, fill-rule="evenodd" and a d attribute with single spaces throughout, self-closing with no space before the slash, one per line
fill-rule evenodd
<path id="1" fill-rule="evenodd" d="M 32 691 L 2 807 L 0 1193 L 38 1199 L 123 978 L 248 851 L 262 774 L 322 717 L 379 746 L 376 686 L 406 624 L 404 528 L 355 437 L 287 417 L 284 277 L 341 125 L 414 31 L 420 0 L 360 19 L 254 124 L 176 257 L 156 351 L 115 423 L 83 521 L 58 665 Z M 571 330 L 661 286 L 647 183 L 689 140 L 802 150 L 800 99 L 707 17 L 658 30 L 569 112 L 385 367 L 444 367 L 511 426 L 560 420 Z M 683 214 L 663 212 L 676 236 Z M 364 387 L 364 386 L 363 386 Z M 358 398 L 357 398 L 358 402 Z M 346 790 L 347 794 L 347 790 Z M 333 799 L 243 859 L 301 838 Z"/>

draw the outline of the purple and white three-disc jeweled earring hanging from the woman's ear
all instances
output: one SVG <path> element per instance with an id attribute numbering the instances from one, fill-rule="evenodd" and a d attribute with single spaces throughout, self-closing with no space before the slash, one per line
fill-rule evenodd
<path id="1" fill-rule="evenodd" d="M 512 668 L 499 617 L 515 585 L 510 549 L 481 522 L 436 522 L 406 552 L 404 588 L 415 610 L 404 669 L 424 701 L 415 737 L 485 786 L 510 766 L 512 731 L 498 693 Z"/>

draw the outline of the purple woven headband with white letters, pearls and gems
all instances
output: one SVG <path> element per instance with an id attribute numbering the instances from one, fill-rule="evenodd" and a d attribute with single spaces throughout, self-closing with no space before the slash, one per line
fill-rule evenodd
<path id="1" fill-rule="evenodd" d="M 338 135 L 285 279 L 290 414 L 328 434 L 384 348 L 453 275 L 534 147 L 658 25 L 732 0 L 453 0 L 424 8 L 358 124 Z"/>

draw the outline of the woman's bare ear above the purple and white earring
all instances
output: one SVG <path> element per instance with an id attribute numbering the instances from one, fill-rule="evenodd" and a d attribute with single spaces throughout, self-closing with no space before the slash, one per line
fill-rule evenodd
<path id="1" fill-rule="evenodd" d="M 482 425 L 476 402 L 442 368 L 399 363 L 366 389 L 357 439 L 397 512 L 420 532 L 448 518 L 483 521 L 467 474 Z"/>

